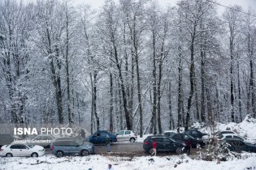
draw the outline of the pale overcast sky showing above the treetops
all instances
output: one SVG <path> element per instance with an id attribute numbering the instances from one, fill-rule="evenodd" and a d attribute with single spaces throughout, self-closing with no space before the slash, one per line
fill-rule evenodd
<path id="1" fill-rule="evenodd" d="M 118 0 L 115 0 L 118 2 Z M 98 7 L 102 6 L 102 4 L 105 2 L 105 0 L 72 0 L 75 4 L 85 3 L 92 6 L 94 9 L 97 9 Z M 158 0 L 159 4 L 161 6 L 167 6 L 170 4 L 171 6 L 176 6 L 176 2 L 178 0 Z M 239 6 L 242 6 L 243 11 L 248 11 L 248 7 L 250 6 L 255 12 L 256 12 L 256 0 L 218 0 L 220 4 L 223 6 L 229 6 L 237 4 Z M 219 8 L 223 8 L 219 6 Z M 220 9 L 220 11 L 223 11 L 223 9 Z"/>

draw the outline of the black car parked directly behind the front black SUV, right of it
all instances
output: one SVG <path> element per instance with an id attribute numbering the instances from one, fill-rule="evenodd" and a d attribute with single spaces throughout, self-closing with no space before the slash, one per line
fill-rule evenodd
<path id="1" fill-rule="evenodd" d="M 178 141 L 178 142 L 184 142 L 185 140 L 189 140 L 192 143 L 192 147 L 203 147 L 206 145 L 205 142 L 202 141 L 202 139 L 200 138 L 193 138 L 192 136 L 188 135 L 188 134 L 173 134 L 171 136 L 171 138 L 173 138 L 174 140 Z"/>

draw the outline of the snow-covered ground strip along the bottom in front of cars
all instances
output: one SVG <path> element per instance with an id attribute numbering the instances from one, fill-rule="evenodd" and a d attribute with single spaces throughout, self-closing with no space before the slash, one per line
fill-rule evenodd
<path id="1" fill-rule="evenodd" d="M 37 164 L 38 163 L 38 164 Z M 127 157 L 89 155 L 87 157 L 72 156 L 56 158 L 54 155 L 45 155 L 39 158 L 2 158 L 1 170 L 104 170 L 108 164 L 112 164 L 115 170 L 244 170 L 256 169 L 256 154 L 247 159 L 233 159 L 216 164 L 216 161 L 203 161 L 190 159 L 186 155 L 170 155 L 164 157 L 142 156 Z M 177 167 L 175 168 L 175 165 Z"/>

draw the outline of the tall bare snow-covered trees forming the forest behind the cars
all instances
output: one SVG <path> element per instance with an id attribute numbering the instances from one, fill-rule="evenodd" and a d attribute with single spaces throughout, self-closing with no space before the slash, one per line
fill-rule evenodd
<path id="1" fill-rule="evenodd" d="M 255 11 L 218 8 L 0 1 L 0 123 L 142 135 L 255 118 Z"/>

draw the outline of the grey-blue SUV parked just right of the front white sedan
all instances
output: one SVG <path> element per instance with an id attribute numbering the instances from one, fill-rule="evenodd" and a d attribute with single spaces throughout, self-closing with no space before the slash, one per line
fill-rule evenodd
<path id="1" fill-rule="evenodd" d="M 52 154 L 57 157 L 63 155 L 89 155 L 94 153 L 93 143 L 83 142 L 78 139 L 58 140 L 51 143 Z"/>

